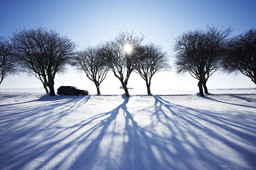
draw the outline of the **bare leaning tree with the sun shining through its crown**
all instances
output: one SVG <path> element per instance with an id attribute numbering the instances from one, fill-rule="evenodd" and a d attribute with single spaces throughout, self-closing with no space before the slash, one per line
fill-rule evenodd
<path id="1" fill-rule="evenodd" d="M 136 47 L 143 41 L 145 37 L 134 36 L 134 33 L 121 31 L 114 41 L 106 42 L 103 55 L 108 58 L 110 70 L 113 71 L 116 78 L 122 84 L 125 96 L 130 96 L 127 83 L 135 68 L 137 54 Z"/>

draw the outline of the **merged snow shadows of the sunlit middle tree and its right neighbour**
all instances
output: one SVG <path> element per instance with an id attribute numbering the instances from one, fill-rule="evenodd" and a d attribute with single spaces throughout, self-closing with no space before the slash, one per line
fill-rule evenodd
<path id="1" fill-rule="evenodd" d="M 243 145 L 248 142 L 253 144 L 256 140 L 256 136 L 251 135 L 255 132 L 255 125 L 250 126 L 249 120 L 233 120 L 228 115 L 172 104 L 160 96 L 153 98 L 155 104 L 144 109 L 146 113 L 151 112 L 151 122 L 146 127 L 139 126 L 134 118 L 136 113 L 127 109 L 129 98 L 125 96 L 123 103 L 115 109 L 79 124 L 82 128 L 100 118 L 97 124 L 80 136 L 81 144 L 98 133 L 72 163 L 71 169 L 244 168 L 230 160 L 231 156 L 218 153 L 216 147 L 223 147 L 224 150 L 230 147 L 231 152 L 239 152 L 245 161 L 252 163 L 251 158 L 256 154 Z M 117 117 L 120 119 L 121 116 L 125 124 L 123 133 L 116 124 Z M 230 136 L 220 134 L 222 131 Z M 106 138 L 108 144 L 103 144 Z M 116 141 L 120 140 L 121 145 L 116 145 Z M 240 140 L 241 144 L 234 140 Z"/>

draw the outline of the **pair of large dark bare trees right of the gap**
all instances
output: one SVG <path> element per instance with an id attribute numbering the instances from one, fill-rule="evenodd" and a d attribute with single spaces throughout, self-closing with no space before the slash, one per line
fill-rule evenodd
<path id="1" fill-rule="evenodd" d="M 208 93 L 206 82 L 217 70 L 240 71 L 256 84 L 256 30 L 229 38 L 232 30 L 207 27 L 182 33 L 174 46 L 178 74 L 188 72 L 198 80 L 200 95 Z M 204 89 L 204 91 L 203 91 Z"/>

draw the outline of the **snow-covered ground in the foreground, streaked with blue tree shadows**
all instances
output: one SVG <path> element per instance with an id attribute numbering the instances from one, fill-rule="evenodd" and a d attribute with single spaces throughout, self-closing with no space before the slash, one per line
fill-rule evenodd
<path id="1" fill-rule="evenodd" d="M 256 169 L 255 160 L 255 94 L 0 94 L 0 169 Z"/>

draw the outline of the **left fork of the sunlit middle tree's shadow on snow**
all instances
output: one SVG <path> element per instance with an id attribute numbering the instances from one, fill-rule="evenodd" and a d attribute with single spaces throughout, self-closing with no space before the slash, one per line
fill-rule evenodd
<path id="1" fill-rule="evenodd" d="M 115 109 L 109 112 L 97 114 L 76 125 L 79 127 L 79 129 L 77 130 L 80 130 L 84 126 L 92 124 L 93 122 L 98 122 L 94 124 L 91 128 L 89 128 L 89 130 L 84 132 L 82 136 L 79 136 L 76 139 L 80 140 L 78 145 L 82 145 L 83 143 L 87 142 L 87 140 L 89 140 L 95 133 L 97 133 L 97 136 L 90 142 L 87 148 L 83 150 L 80 156 L 74 161 L 70 169 L 79 169 L 80 167 L 84 169 L 94 169 L 95 166 L 100 166 L 100 163 L 105 166 L 105 168 L 102 167 L 103 169 L 114 169 L 114 167 L 112 167 L 112 159 L 110 157 L 111 150 L 114 145 L 113 138 L 115 138 L 116 135 L 120 135 L 120 133 L 118 132 L 120 127 L 116 126 L 116 118 L 120 110 L 123 110 L 126 107 L 125 105 L 129 102 L 129 98 L 123 96 L 123 99 L 123 103 L 117 106 Z M 105 150 L 101 151 L 101 142 L 105 137 L 109 138 L 109 143 L 108 145 L 105 145 Z M 102 154 L 101 152 L 105 153 Z M 109 156 L 109 158 L 104 157 L 105 160 L 100 160 L 101 155 L 107 155 Z M 98 162 L 98 160 L 95 160 L 95 158 L 102 162 Z M 103 162 L 105 163 L 106 160 L 108 160 L 109 162 L 107 164 L 103 164 Z M 62 162 L 60 162 L 58 166 L 55 166 L 55 168 L 58 168 L 61 163 Z"/>

